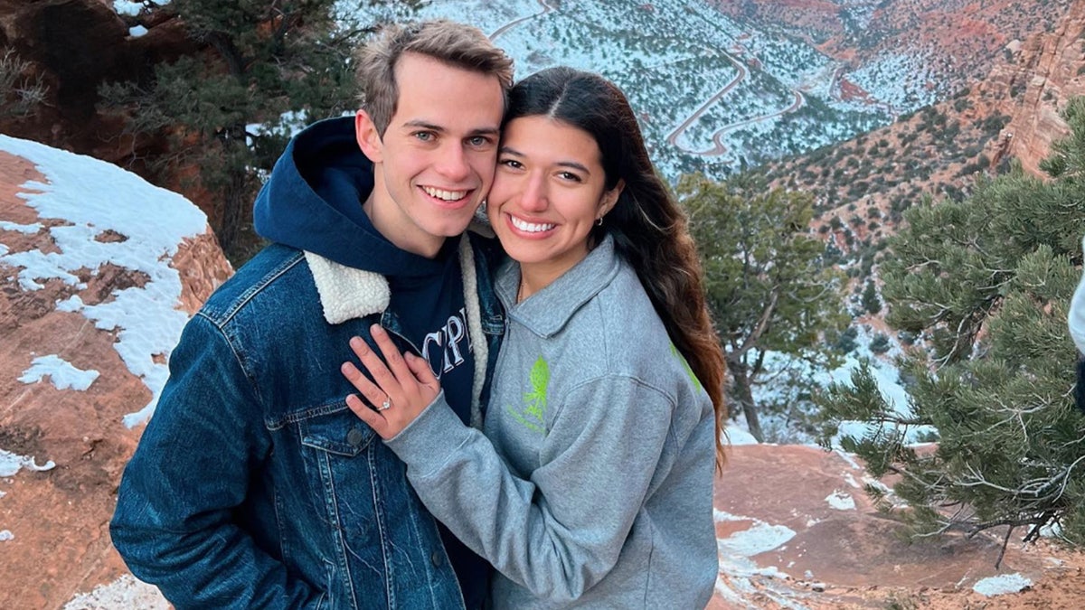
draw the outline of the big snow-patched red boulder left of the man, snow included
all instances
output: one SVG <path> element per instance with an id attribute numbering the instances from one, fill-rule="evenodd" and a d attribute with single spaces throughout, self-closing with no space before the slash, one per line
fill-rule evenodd
<path id="1" fill-rule="evenodd" d="M 232 270 L 191 203 L 30 144 L 0 136 L 0 608 L 164 607 L 110 543 L 125 421 Z"/>

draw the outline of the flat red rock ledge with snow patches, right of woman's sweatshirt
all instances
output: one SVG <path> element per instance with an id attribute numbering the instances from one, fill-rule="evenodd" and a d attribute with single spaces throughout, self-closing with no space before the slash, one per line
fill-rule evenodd
<path id="1" fill-rule="evenodd" d="M 716 481 L 720 574 L 709 608 L 1071 610 L 1085 599 L 1082 554 L 1022 548 L 1018 535 L 995 568 L 1005 532 L 909 542 L 872 506 L 867 484 L 880 485 L 845 454 L 733 447 Z M 981 593 L 1001 584 L 1014 593 Z"/>

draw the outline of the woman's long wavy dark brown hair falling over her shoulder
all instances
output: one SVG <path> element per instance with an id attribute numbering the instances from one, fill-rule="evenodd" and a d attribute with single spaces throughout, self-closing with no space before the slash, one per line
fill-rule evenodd
<path id="1" fill-rule="evenodd" d="M 590 134 L 602 153 L 607 190 L 625 188 L 597 226 L 633 266 L 675 346 L 709 393 L 716 414 L 716 465 L 726 458 L 726 364 L 704 295 L 704 276 L 686 215 L 655 173 L 625 94 L 605 78 L 570 67 L 536 73 L 513 87 L 506 123 L 547 116 Z"/>

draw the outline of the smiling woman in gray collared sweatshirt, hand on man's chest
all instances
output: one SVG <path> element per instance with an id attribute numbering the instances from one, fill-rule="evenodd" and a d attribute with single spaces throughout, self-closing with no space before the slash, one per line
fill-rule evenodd
<path id="1" fill-rule="evenodd" d="M 387 366 L 352 346 L 376 383 L 343 366 L 373 407 L 347 402 L 494 564 L 495 607 L 704 607 L 724 361 L 685 217 L 611 82 L 551 68 L 509 104 L 487 205 L 509 321 L 485 436 L 375 327 Z"/>

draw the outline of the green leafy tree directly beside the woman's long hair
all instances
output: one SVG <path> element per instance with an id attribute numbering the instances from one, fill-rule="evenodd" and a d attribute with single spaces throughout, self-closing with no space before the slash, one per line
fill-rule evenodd
<path id="1" fill-rule="evenodd" d="M 809 231 L 808 193 L 768 190 L 745 176 L 714 182 L 701 175 L 684 176 L 677 192 L 704 265 L 731 379 L 728 395 L 751 434 L 764 441 L 753 387 L 767 372 L 765 358 L 774 352 L 812 369 L 835 361 L 825 335 L 840 334 L 850 321 L 843 277 L 826 264 L 825 244 Z M 800 396 L 810 381 L 791 370 L 774 384 Z"/>

